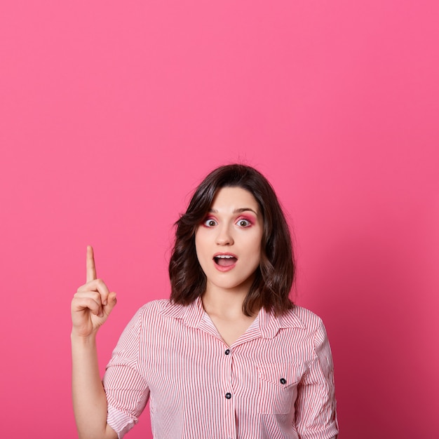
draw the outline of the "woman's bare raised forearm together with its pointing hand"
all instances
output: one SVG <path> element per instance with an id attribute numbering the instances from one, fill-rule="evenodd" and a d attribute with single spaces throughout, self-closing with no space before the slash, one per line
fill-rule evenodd
<path id="1" fill-rule="evenodd" d="M 96 334 L 116 304 L 116 294 L 96 278 L 93 248 L 87 248 L 87 283 L 72 300 L 72 397 L 81 439 L 116 439 L 107 425 L 105 396 L 97 364 Z"/>

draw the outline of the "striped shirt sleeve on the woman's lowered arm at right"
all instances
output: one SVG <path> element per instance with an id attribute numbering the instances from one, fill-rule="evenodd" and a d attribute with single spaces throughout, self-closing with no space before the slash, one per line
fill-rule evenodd
<path id="1" fill-rule="evenodd" d="M 334 366 L 325 326 L 314 335 L 314 354 L 297 389 L 296 427 L 301 439 L 333 439 L 338 435 Z"/>

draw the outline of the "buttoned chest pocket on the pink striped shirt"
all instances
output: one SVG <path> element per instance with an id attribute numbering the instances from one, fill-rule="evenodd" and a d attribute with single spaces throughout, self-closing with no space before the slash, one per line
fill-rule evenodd
<path id="1" fill-rule="evenodd" d="M 260 414 L 288 414 L 293 411 L 304 367 L 296 363 L 264 363 L 258 366 Z"/>

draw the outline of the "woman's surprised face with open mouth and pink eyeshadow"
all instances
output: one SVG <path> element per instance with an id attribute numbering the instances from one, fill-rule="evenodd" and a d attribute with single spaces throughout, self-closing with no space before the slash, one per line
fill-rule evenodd
<path id="1" fill-rule="evenodd" d="M 247 294 L 260 262 L 263 229 L 262 212 L 249 191 L 241 187 L 217 191 L 195 233 L 206 290 Z"/>

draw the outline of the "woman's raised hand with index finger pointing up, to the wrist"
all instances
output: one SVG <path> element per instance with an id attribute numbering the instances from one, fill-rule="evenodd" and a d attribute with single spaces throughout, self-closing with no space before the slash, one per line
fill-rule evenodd
<path id="1" fill-rule="evenodd" d="M 116 293 L 109 292 L 102 279 L 96 278 L 93 248 L 87 247 L 87 283 L 78 288 L 72 300 L 72 335 L 95 336 L 116 304 Z"/>

